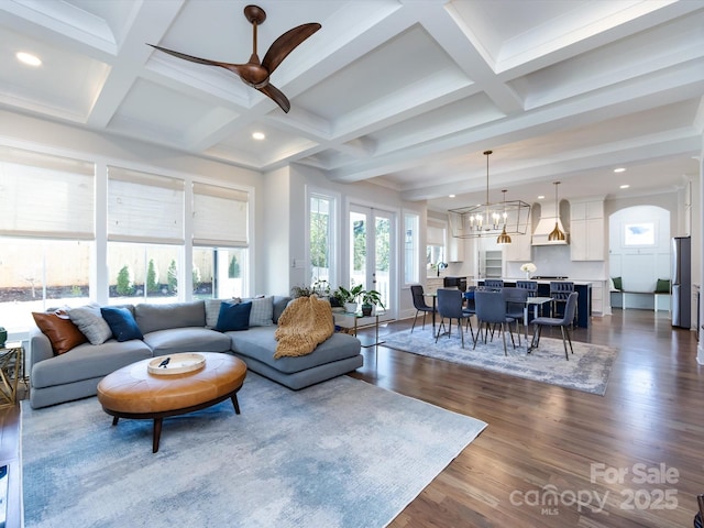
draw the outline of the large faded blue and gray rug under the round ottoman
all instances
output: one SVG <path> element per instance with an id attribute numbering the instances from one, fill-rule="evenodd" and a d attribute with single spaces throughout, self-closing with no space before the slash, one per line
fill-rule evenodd
<path id="1" fill-rule="evenodd" d="M 25 526 L 384 527 L 486 427 L 348 376 L 152 421 L 22 402 Z"/>

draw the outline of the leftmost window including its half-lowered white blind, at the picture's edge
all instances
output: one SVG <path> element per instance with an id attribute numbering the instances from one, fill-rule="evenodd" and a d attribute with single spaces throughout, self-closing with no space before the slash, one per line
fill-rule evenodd
<path id="1" fill-rule="evenodd" d="M 0 146 L 0 324 L 10 331 L 32 311 L 88 298 L 94 180 L 92 163 Z"/>

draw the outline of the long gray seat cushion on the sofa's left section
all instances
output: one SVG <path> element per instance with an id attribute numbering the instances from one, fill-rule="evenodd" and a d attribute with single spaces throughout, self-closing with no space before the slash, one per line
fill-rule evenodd
<path id="1" fill-rule="evenodd" d="M 152 358 L 152 350 L 136 339 L 123 343 L 110 339 L 98 345 L 79 344 L 65 354 L 35 363 L 31 373 L 32 388 L 102 377 L 147 358 Z"/>

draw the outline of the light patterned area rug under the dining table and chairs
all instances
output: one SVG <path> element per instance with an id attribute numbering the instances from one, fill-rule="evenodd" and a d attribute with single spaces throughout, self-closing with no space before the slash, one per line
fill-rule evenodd
<path id="1" fill-rule="evenodd" d="M 521 346 L 518 346 L 516 340 L 517 346 L 514 349 L 508 332 L 508 355 L 504 355 L 504 344 L 498 332 L 486 344 L 483 339 L 479 340 L 476 350 L 472 350 L 472 337 L 465 332 L 462 349 L 460 334 L 454 326 L 452 334 L 441 336 L 437 343 L 428 328 L 415 329 L 413 333 L 410 330 L 403 330 L 384 336 L 383 340 L 385 346 L 404 352 L 602 396 L 606 394 L 608 376 L 617 355 L 617 350 L 609 346 L 572 341 L 574 354 L 570 353 L 568 361 L 564 359 L 562 339 L 546 337 L 540 339 L 540 346 L 528 354 L 524 337 L 521 336 Z"/>

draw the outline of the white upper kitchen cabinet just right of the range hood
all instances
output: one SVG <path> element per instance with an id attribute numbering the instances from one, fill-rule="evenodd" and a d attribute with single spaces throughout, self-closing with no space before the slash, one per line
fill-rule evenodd
<path id="1" fill-rule="evenodd" d="M 604 200 L 570 202 L 570 254 L 573 261 L 604 260 Z"/>

